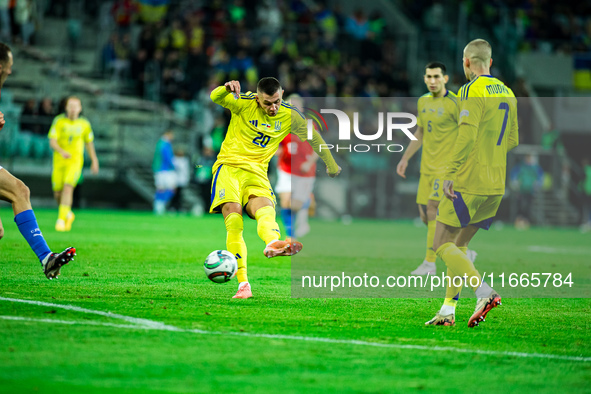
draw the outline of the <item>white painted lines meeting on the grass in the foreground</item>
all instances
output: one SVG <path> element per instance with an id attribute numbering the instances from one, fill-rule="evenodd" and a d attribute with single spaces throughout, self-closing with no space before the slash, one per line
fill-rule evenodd
<path id="1" fill-rule="evenodd" d="M 148 319 L 139 319 L 135 317 L 119 315 L 110 312 L 95 311 L 92 309 L 80 308 L 73 305 L 61 305 L 53 304 L 50 302 L 33 301 L 33 300 L 21 300 L 16 298 L 4 298 L 0 297 L 0 301 L 9 302 L 21 302 L 26 304 L 49 306 L 53 308 L 67 309 L 71 311 L 77 311 L 82 313 L 91 313 L 100 316 L 107 316 L 114 319 L 121 319 L 133 324 L 113 324 L 106 322 L 91 322 L 85 320 L 56 320 L 56 319 L 34 319 L 19 316 L 0 316 L 0 320 L 14 320 L 14 321 L 29 321 L 37 323 L 50 323 L 50 324 L 80 324 L 80 325 L 92 325 L 92 326 L 106 326 L 116 328 L 128 328 L 132 330 L 158 330 L 158 331 L 175 331 L 185 332 L 192 334 L 201 335 L 231 335 L 238 337 L 247 338 L 266 338 L 266 339 L 282 339 L 286 341 L 304 341 L 304 342 L 321 342 L 321 343 L 333 343 L 343 345 L 357 345 L 357 346 L 370 346 L 378 348 L 388 349 L 402 349 L 402 350 L 424 350 L 428 352 L 454 352 L 454 353 L 466 353 L 466 354 L 480 354 L 485 356 L 500 356 L 500 357 L 519 357 L 519 358 L 538 358 L 546 360 L 561 360 L 561 361 L 582 361 L 591 362 L 591 357 L 583 356 L 562 356 L 556 354 L 544 354 L 544 353 L 523 353 L 523 352 L 502 352 L 495 350 L 479 350 L 479 349 L 463 349 L 449 346 L 425 346 L 425 345 L 399 345 L 394 343 L 379 343 L 379 342 L 366 342 L 355 339 L 332 339 L 332 338 L 320 338 L 320 337 L 304 337 L 295 335 L 281 335 L 281 334 L 256 334 L 248 332 L 221 332 L 221 331 L 205 331 L 198 329 L 183 329 L 175 326 L 170 326 L 164 323 L 156 322 Z"/>

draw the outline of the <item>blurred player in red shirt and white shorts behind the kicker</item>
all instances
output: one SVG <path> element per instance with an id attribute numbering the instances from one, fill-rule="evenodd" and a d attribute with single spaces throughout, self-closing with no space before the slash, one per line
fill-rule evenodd
<path id="1" fill-rule="evenodd" d="M 286 101 L 294 107 L 303 107 L 302 98 L 297 94 L 292 94 Z M 279 196 L 281 219 L 288 238 L 302 237 L 310 231 L 307 208 L 316 179 L 317 159 L 318 155 L 310 144 L 298 136 L 288 134 L 281 141 L 275 193 Z"/>

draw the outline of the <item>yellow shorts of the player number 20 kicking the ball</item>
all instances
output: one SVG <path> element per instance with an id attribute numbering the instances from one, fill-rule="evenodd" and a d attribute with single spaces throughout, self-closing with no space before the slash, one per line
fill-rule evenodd
<path id="1" fill-rule="evenodd" d="M 271 183 L 252 172 L 222 164 L 213 174 L 210 213 L 221 213 L 221 205 L 237 202 L 246 207 L 250 196 L 266 197 L 277 205 Z M 246 209 L 245 209 L 246 210 Z"/>

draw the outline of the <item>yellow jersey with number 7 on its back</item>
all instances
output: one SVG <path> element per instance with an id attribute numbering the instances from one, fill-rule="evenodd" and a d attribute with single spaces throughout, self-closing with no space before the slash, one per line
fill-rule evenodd
<path id="1" fill-rule="evenodd" d="M 513 91 L 493 76 L 481 75 L 460 89 L 459 105 L 460 130 L 445 179 L 454 180 L 454 190 L 460 192 L 504 194 L 507 152 L 519 143 Z"/>

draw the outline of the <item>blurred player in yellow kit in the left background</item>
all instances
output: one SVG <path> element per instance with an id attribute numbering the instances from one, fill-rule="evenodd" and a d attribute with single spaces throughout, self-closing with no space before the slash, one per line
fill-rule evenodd
<path id="1" fill-rule="evenodd" d="M 80 116 L 82 103 L 78 97 L 66 101 L 66 116 L 56 117 L 49 130 L 49 145 L 53 149 L 51 183 L 59 204 L 56 231 L 70 231 L 74 222 L 72 199 L 84 165 L 84 146 L 88 150 L 93 174 L 99 172 L 99 162 L 94 149 L 94 134 L 90 122 Z"/>

